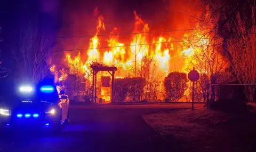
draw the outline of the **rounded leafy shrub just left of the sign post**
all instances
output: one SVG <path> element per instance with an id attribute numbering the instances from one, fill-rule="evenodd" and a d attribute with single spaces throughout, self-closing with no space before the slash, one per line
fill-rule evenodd
<path id="1" fill-rule="evenodd" d="M 178 101 L 187 90 L 188 78 L 186 73 L 177 71 L 169 73 L 164 79 L 164 87 L 170 101 Z"/>

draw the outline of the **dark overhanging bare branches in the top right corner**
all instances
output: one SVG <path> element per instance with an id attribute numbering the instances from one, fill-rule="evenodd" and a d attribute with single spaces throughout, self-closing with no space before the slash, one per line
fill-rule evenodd
<path id="1" fill-rule="evenodd" d="M 228 39 L 237 35 L 237 17 L 241 17 L 241 23 L 246 31 L 251 31 L 255 25 L 255 0 L 203 0 L 204 10 L 199 23 L 204 26 L 212 23 L 213 29 L 218 29 L 218 34 Z M 207 18 L 205 18 L 207 16 Z M 231 25 L 231 26 L 227 26 Z"/>

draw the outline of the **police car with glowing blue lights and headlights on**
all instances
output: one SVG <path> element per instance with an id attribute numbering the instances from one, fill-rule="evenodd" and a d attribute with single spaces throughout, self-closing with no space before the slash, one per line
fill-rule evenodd
<path id="1" fill-rule="evenodd" d="M 3 88 L 0 93 L 2 129 L 60 130 L 63 123 L 69 122 L 69 99 L 60 86 L 24 84 L 16 89 Z"/>

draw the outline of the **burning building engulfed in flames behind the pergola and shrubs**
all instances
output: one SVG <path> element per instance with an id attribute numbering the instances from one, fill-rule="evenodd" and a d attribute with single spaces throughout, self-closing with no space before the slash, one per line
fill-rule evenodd
<path id="1" fill-rule="evenodd" d="M 91 65 L 99 63 L 105 66 L 117 67 L 116 77 L 118 78 L 140 78 L 145 80 L 142 90 L 145 94 L 152 92 L 161 93 L 164 77 L 170 71 L 182 71 L 188 73 L 191 69 L 191 58 L 198 45 L 208 45 L 209 41 L 200 30 L 193 30 L 193 33 L 173 35 L 175 30 L 150 30 L 150 25 L 143 20 L 136 11 L 133 12 L 133 30 L 121 33 L 114 27 L 110 32 L 107 29 L 105 18 L 94 10 L 94 18 L 97 25 L 95 33 L 86 36 L 73 37 L 75 46 L 68 45 L 69 40 L 63 41 L 60 45 L 65 46 L 69 51 L 65 53 L 63 62 L 68 65 L 68 71 L 62 70 L 59 81 L 65 81 L 68 75 L 75 75 L 76 78 L 85 78 L 85 92 L 90 96 L 92 87 Z M 93 24 L 92 24 L 93 25 Z M 177 34 L 178 30 L 174 34 Z M 196 34 L 195 34 L 196 33 Z M 74 40 L 75 38 L 79 38 Z M 191 45 L 191 38 L 197 39 Z M 83 48 L 76 49 L 76 44 Z M 71 48 L 71 49 L 70 49 Z M 55 67 L 52 67 L 53 70 Z M 97 75 L 100 80 L 97 84 L 97 97 L 106 102 L 110 101 L 110 75 L 100 72 Z M 77 80 L 76 80 L 77 81 Z M 160 98 L 160 97 L 159 97 Z M 142 97 L 140 98 L 142 99 Z M 163 98 L 162 98 L 163 99 Z M 157 100 L 157 99 L 154 99 Z"/>

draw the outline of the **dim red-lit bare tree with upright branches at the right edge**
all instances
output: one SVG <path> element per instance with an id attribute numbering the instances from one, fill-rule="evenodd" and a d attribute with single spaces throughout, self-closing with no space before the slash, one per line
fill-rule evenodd
<path id="1" fill-rule="evenodd" d="M 253 9 L 254 15 L 255 11 Z M 247 31 L 242 21 L 240 15 L 237 15 L 235 26 L 239 35 L 228 39 L 226 51 L 239 83 L 256 84 L 256 25 Z M 244 92 L 247 101 L 253 102 L 255 86 L 245 86 Z"/>

